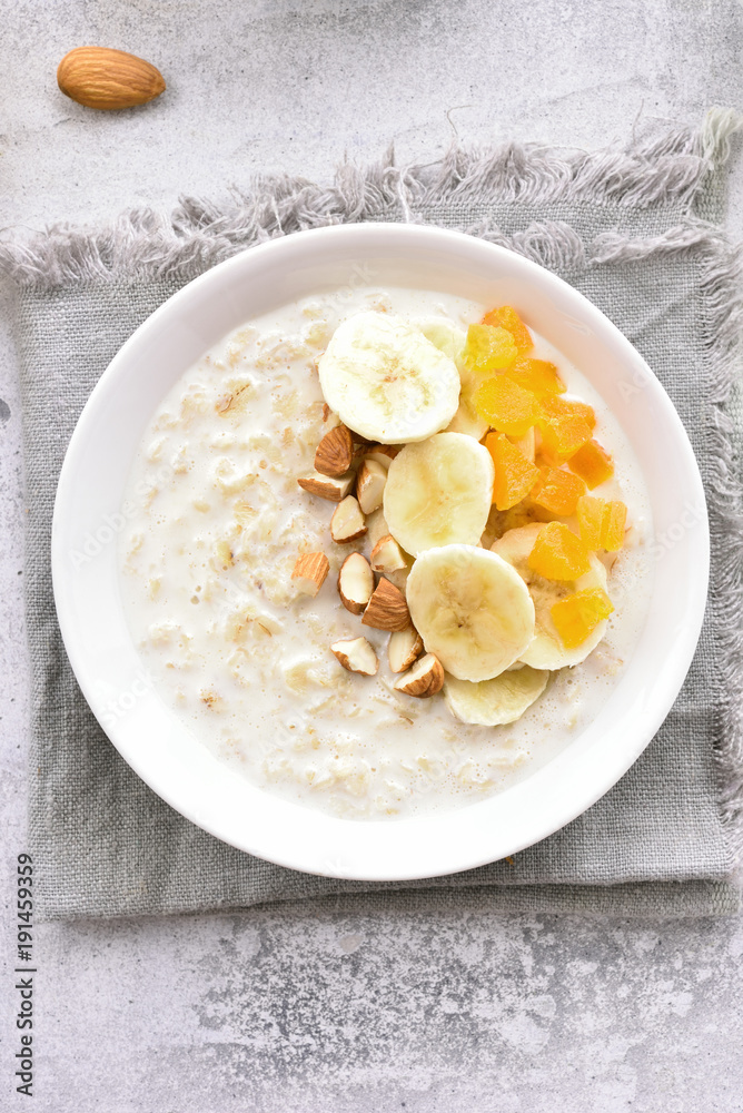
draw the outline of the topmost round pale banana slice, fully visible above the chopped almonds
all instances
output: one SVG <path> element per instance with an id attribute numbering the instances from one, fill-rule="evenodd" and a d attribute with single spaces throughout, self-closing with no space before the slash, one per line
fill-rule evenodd
<path id="1" fill-rule="evenodd" d="M 459 405 L 454 361 L 392 313 L 357 313 L 318 362 L 325 401 L 341 422 L 380 444 L 424 441 Z"/>

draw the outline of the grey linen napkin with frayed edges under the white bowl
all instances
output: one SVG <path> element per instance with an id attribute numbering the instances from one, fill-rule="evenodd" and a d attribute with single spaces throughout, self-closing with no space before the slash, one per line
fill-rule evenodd
<path id="1" fill-rule="evenodd" d="M 740 846 L 743 503 L 725 405 L 743 307 L 741 257 L 719 228 L 733 114 L 625 150 L 511 145 L 426 167 L 346 165 L 333 186 L 266 178 L 224 204 L 129 214 L 106 233 L 52 229 L 0 246 L 18 288 L 27 469 L 26 590 L 32 657 L 30 841 L 46 918 L 333 907 L 734 912 Z M 694 664 L 643 757 L 563 830 L 467 873 L 405 885 L 295 873 L 227 846 L 172 811 L 119 757 L 80 695 L 49 568 L 65 450 L 95 383 L 167 297 L 273 236 L 351 220 L 418 220 L 503 244 L 561 274 L 642 352 L 694 445 L 712 524 L 712 587 Z M 642 400 L 638 400 L 642 404 Z M 665 543 L 664 539 L 660 539 Z M 670 542 L 672 543 L 672 542 Z"/>

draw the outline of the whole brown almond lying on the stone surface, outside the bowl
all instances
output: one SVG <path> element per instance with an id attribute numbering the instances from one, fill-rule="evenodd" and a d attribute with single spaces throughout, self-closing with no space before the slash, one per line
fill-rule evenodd
<path id="1" fill-rule="evenodd" d="M 107 47 L 70 50 L 57 68 L 57 83 L 78 105 L 105 110 L 146 105 L 165 90 L 155 66 Z"/>

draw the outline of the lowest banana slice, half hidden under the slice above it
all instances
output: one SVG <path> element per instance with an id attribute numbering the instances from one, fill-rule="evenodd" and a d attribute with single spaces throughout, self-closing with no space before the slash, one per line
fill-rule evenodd
<path id="1" fill-rule="evenodd" d="M 502 672 L 478 684 L 447 677 L 444 698 L 449 710 L 463 722 L 499 727 L 521 719 L 545 690 L 548 679 L 548 672 L 529 669 L 526 664 L 517 672 Z"/>

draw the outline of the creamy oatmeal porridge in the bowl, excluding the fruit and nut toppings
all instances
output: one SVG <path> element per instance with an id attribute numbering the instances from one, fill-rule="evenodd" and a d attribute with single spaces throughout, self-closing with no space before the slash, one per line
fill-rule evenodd
<path id="1" fill-rule="evenodd" d="M 268 791 L 337 816 L 379 818 L 460 807 L 528 776 L 591 722 L 637 641 L 651 591 L 647 496 L 617 422 L 587 381 L 535 336 L 568 393 L 594 406 L 615 477 L 593 494 L 628 506 L 627 545 L 608 578 L 616 607 L 604 641 L 555 673 L 521 720 L 475 727 L 443 696 L 393 691 L 387 639 L 336 592 L 338 569 L 368 535 L 336 545 L 335 503 L 301 491 L 325 432 L 316 361 L 351 313 L 387 308 L 466 328 L 485 306 L 386 288 L 339 292 L 251 321 L 190 367 L 149 423 L 125 505 L 121 592 L 161 698 L 185 727 Z M 316 599 L 291 582 L 297 554 L 321 550 Z M 330 643 L 363 634 L 376 677 L 344 671 Z"/>

